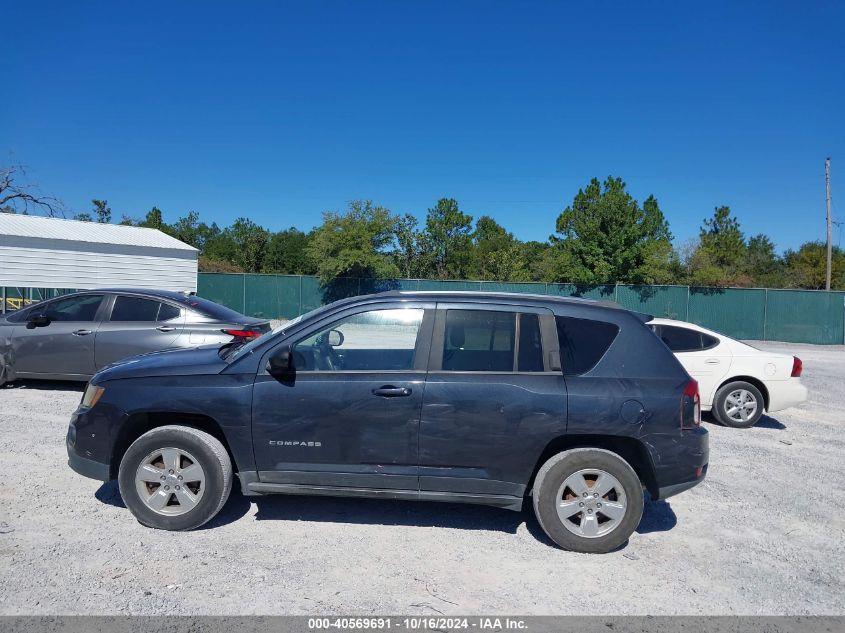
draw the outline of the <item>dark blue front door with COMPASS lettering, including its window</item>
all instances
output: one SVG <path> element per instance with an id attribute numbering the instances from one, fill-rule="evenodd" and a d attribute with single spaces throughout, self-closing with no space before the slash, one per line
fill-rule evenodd
<path id="1" fill-rule="evenodd" d="M 265 356 L 252 408 L 261 481 L 416 491 L 432 320 L 423 304 L 352 308 L 281 343 L 290 379 L 267 374 Z"/>

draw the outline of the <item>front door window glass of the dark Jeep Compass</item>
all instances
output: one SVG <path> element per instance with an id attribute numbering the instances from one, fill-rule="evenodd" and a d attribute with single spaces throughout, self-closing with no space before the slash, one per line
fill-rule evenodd
<path id="1" fill-rule="evenodd" d="M 423 310 L 371 310 L 346 317 L 293 347 L 299 371 L 402 371 L 414 368 Z"/>

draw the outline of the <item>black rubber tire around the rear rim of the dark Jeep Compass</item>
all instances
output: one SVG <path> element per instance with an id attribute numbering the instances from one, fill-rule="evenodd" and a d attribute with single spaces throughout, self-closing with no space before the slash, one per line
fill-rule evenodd
<path id="1" fill-rule="evenodd" d="M 564 482 L 582 470 L 600 470 L 612 475 L 624 490 L 624 513 L 606 534 L 581 536 L 564 525 L 558 515 L 558 493 Z M 577 476 L 577 475 L 576 475 Z M 568 488 L 563 492 L 566 494 Z M 608 493 L 608 496 L 616 495 Z M 637 473 L 630 464 L 615 453 L 597 448 L 576 448 L 558 453 L 540 468 L 534 480 L 534 512 L 543 531 L 557 545 L 573 552 L 604 554 L 624 544 L 640 524 L 643 515 L 643 489 Z M 576 497 L 576 500 L 579 500 Z M 597 501 L 603 501 L 598 498 Z M 613 500 L 611 500 L 612 502 Z M 607 502 L 606 502 L 607 503 Z M 582 512 L 579 514 L 583 514 Z M 577 517 L 576 517 L 577 518 Z M 596 510 L 595 520 L 608 521 L 602 510 Z"/>

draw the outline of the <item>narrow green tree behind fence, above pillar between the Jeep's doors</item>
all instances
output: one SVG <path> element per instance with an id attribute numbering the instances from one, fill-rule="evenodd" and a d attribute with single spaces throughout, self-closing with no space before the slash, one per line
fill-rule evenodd
<path id="1" fill-rule="evenodd" d="M 428 210 L 424 255 L 431 259 L 438 279 L 465 279 L 471 261 L 472 216 L 458 202 L 441 198 Z"/>

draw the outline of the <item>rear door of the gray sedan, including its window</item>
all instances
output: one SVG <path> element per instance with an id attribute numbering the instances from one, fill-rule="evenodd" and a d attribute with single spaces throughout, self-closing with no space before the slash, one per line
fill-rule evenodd
<path id="1" fill-rule="evenodd" d="M 136 295 L 111 295 L 97 330 L 97 369 L 130 356 L 170 349 L 185 326 L 185 309 Z"/>

